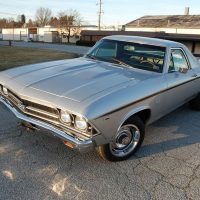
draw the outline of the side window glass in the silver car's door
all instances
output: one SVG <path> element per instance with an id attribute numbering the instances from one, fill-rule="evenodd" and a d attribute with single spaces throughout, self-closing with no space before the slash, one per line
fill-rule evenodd
<path id="1" fill-rule="evenodd" d="M 180 49 L 172 50 L 169 72 L 181 71 L 183 69 L 189 69 L 184 53 Z"/>

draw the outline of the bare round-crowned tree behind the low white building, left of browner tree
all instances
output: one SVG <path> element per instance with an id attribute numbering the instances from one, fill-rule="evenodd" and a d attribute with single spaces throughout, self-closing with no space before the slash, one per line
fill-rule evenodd
<path id="1" fill-rule="evenodd" d="M 48 25 L 52 17 L 52 12 L 49 8 L 40 7 L 36 10 L 36 23 L 38 26 Z"/>

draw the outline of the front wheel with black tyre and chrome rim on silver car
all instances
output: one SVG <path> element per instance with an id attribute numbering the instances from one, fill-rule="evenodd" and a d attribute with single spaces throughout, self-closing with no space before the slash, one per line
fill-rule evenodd
<path id="1" fill-rule="evenodd" d="M 139 149 L 144 140 L 144 135 L 144 123 L 135 116 L 120 127 L 112 142 L 98 146 L 97 152 L 105 160 L 126 160 Z"/>

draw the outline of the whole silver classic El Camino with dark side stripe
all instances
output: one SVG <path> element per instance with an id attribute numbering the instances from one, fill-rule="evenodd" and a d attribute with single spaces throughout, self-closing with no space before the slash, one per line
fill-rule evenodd
<path id="1" fill-rule="evenodd" d="M 85 56 L 0 73 L 0 101 L 71 149 L 125 160 L 145 125 L 190 102 L 200 110 L 200 63 L 183 44 L 109 36 Z"/>

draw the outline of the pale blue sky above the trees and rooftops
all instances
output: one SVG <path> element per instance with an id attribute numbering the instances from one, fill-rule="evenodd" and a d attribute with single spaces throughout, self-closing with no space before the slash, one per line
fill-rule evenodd
<path id="1" fill-rule="evenodd" d="M 53 14 L 76 9 L 84 21 L 97 24 L 99 0 L 0 0 L 0 18 L 25 14 L 34 19 L 39 7 L 48 7 Z M 186 6 L 191 14 L 200 14 L 200 0 L 102 0 L 103 25 L 121 25 L 143 15 L 183 14 Z"/>

